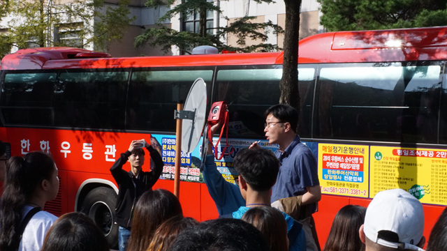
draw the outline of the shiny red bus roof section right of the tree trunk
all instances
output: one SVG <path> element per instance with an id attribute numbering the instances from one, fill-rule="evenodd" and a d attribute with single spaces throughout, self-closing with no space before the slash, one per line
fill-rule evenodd
<path id="1" fill-rule="evenodd" d="M 338 31 L 300 40 L 299 63 L 424 61 L 447 59 L 447 26 Z"/>

